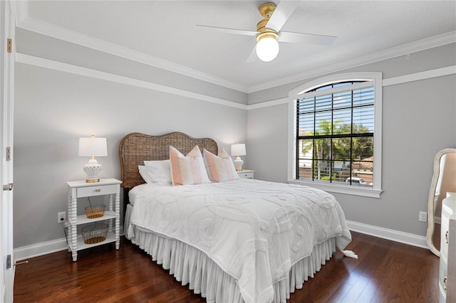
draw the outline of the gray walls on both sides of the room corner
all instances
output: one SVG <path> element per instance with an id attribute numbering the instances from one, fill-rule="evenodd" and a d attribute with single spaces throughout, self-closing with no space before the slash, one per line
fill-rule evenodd
<path id="1" fill-rule="evenodd" d="M 456 47 L 442 46 L 348 71 L 382 72 L 383 78 L 456 65 Z M 128 64 L 128 63 L 125 63 Z M 243 94 L 195 79 L 172 75 L 160 84 L 192 90 L 240 104 L 288 96 L 301 80 Z M 147 73 L 144 73 L 147 75 Z M 145 76 L 144 76 L 145 77 Z M 427 194 L 435 153 L 456 147 L 456 76 L 447 75 L 383 87 L 383 193 L 381 198 L 335 194 L 348 220 L 424 236 Z M 198 88 L 204 87 L 204 90 Z M 255 177 L 287 179 L 287 105 L 251 110 L 219 105 L 57 70 L 16 64 L 14 124 L 14 247 L 64 238 L 56 215 L 66 211 L 66 181 L 82 180 L 78 138 L 108 139 L 108 157 L 100 157 L 102 178 L 120 178 L 118 144 L 130 132 L 187 132 L 213 137 L 219 147 L 245 142 L 244 168 Z"/>

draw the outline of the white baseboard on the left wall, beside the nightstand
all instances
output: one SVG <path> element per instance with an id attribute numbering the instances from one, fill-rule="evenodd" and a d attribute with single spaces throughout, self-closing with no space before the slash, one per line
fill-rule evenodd
<path id="1" fill-rule="evenodd" d="M 120 230 L 123 230 L 123 226 L 120 226 Z M 120 235 L 123 235 L 123 233 L 120 233 Z M 81 235 L 78 236 L 81 237 Z M 66 238 L 61 238 L 43 243 L 36 243 L 33 245 L 24 246 L 22 248 L 14 248 L 14 260 L 25 260 L 31 257 L 47 255 L 52 252 L 60 252 L 62 250 L 68 250 Z"/>

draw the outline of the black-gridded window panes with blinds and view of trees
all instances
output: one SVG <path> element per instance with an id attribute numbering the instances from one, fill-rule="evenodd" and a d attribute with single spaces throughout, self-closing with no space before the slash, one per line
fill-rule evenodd
<path id="1" fill-rule="evenodd" d="M 326 84 L 296 100 L 296 179 L 373 186 L 373 81 Z"/>

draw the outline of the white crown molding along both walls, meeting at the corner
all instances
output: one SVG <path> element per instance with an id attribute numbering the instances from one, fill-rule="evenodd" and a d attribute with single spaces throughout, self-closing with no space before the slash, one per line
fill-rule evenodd
<path id="1" fill-rule="evenodd" d="M 395 58 L 400 55 L 408 55 L 410 53 L 416 53 L 421 50 L 427 50 L 430 48 L 435 48 L 438 46 L 445 46 L 450 43 L 456 43 L 456 31 L 450 31 L 448 33 L 442 33 L 437 36 L 432 36 L 430 38 L 425 38 L 419 41 L 412 43 L 404 44 L 403 46 L 398 46 L 395 48 L 388 48 L 387 50 L 382 50 L 377 53 L 372 53 L 365 55 L 353 60 L 346 60 L 341 63 L 331 64 L 326 67 L 316 68 L 314 70 L 307 70 L 305 73 L 299 73 L 296 75 L 291 75 L 289 77 L 279 78 L 269 82 L 261 83 L 259 85 L 252 85 L 247 87 L 239 83 L 234 83 L 222 78 L 219 78 L 215 75 L 210 75 L 208 73 L 203 73 L 202 71 L 195 70 L 192 68 L 187 68 L 184 65 L 179 65 L 177 63 L 172 63 L 161 58 L 157 58 L 145 53 L 140 53 L 136 50 L 130 48 L 125 48 L 114 43 L 109 43 L 107 41 L 100 40 L 98 38 L 93 38 L 91 36 L 78 33 L 76 31 L 71 31 L 60 26 L 53 25 L 51 23 L 46 23 L 40 21 L 36 18 L 31 18 L 27 16 L 28 9 L 26 1 L 19 1 L 21 4 L 18 4 L 17 16 L 18 16 L 18 25 L 17 27 L 25 29 L 27 31 L 33 31 L 35 33 L 40 33 L 44 36 L 49 36 L 52 38 L 60 39 L 66 42 L 74 43 L 79 46 L 84 46 L 87 48 L 92 48 L 94 50 L 100 50 L 105 53 L 110 53 L 111 55 L 117 55 L 120 58 L 125 58 L 128 60 L 134 60 L 139 63 L 153 66 L 155 68 L 162 68 L 163 70 L 169 70 L 172 73 L 179 73 L 180 75 L 186 75 L 197 80 L 206 81 L 215 85 L 221 85 L 233 90 L 240 92 L 257 92 L 260 90 L 266 90 L 271 87 L 277 87 L 279 85 L 286 85 L 289 83 L 298 82 L 308 78 L 314 78 L 321 75 L 326 75 L 328 73 L 336 73 L 341 70 L 346 70 L 348 68 L 356 68 L 357 66 L 366 65 L 375 63 L 381 60 L 387 60 L 390 58 Z"/>

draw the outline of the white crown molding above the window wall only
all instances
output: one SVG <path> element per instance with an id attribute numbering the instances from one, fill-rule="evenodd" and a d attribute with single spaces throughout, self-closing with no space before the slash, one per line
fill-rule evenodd
<path id="1" fill-rule="evenodd" d="M 408 55 L 410 53 L 416 53 L 421 50 L 436 48 L 438 46 L 445 46 L 450 43 L 456 43 L 456 31 L 442 33 L 437 36 L 432 36 L 430 38 L 425 38 L 423 40 L 407 43 L 395 48 L 388 48 L 387 50 L 382 50 L 380 52 L 365 55 L 363 57 L 359 57 L 353 60 L 347 60 L 341 63 L 328 65 L 326 67 L 308 70 L 306 71 L 306 73 L 299 73 L 296 75 L 291 75 L 289 77 L 261 83 L 260 85 L 253 85 L 248 88 L 247 93 L 266 90 L 271 87 L 286 85 L 289 83 L 294 83 L 297 81 L 314 78 L 321 75 L 326 75 L 328 73 L 336 73 L 341 70 L 346 70 L 348 68 L 356 68 L 357 66 L 371 64 L 378 61 L 387 60 L 390 58 L 395 58 L 400 55 Z"/>

